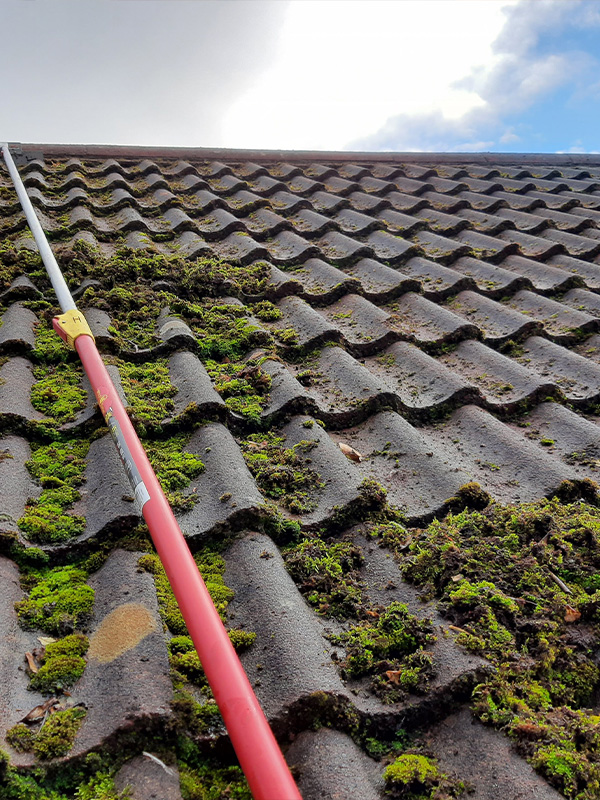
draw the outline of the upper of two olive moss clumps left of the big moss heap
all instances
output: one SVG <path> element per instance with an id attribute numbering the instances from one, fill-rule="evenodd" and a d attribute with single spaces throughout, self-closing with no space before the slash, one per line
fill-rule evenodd
<path id="1" fill-rule="evenodd" d="M 287 548 L 283 557 L 298 588 L 320 614 L 336 619 L 363 615 L 360 547 L 316 537 Z"/>

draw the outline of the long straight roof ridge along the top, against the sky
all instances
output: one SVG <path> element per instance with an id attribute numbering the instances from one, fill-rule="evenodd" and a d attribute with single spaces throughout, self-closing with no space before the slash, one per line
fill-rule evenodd
<path id="1" fill-rule="evenodd" d="M 32 156 L 83 158 L 168 158 L 201 161 L 368 161 L 418 164 L 544 164 L 556 166 L 600 165 L 600 154 L 591 153 L 397 153 L 328 150 L 241 150 L 223 147 L 146 147 L 104 144 L 35 144 L 10 142 Z"/>

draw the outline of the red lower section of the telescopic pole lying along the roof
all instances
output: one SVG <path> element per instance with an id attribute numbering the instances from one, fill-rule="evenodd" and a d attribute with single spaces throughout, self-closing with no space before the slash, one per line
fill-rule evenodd
<path id="1" fill-rule="evenodd" d="M 55 328 L 64 338 L 58 322 Z M 250 791 L 255 800 L 302 800 L 95 342 L 80 334 L 74 344 L 142 505 Z"/>

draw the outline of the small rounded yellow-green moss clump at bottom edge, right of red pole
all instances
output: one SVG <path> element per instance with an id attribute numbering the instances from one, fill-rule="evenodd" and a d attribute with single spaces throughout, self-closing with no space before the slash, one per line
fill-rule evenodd
<path id="1" fill-rule="evenodd" d="M 465 785 L 440 772 L 435 759 L 404 753 L 383 773 L 386 794 L 403 800 L 450 800 L 460 797 Z"/>

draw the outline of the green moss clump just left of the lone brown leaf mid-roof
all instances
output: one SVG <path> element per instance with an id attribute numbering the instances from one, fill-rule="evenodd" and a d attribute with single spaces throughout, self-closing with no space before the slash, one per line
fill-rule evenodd
<path id="1" fill-rule="evenodd" d="M 302 440 L 285 447 L 285 439 L 274 433 L 251 434 L 241 442 L 242 453 L 250 472 L 264 494 L 277 500 L 293 514 L 308 514 L 317 507 L 314 497 L 325 483 L 311 469 L 307 454 L 318 446 Z"/>

